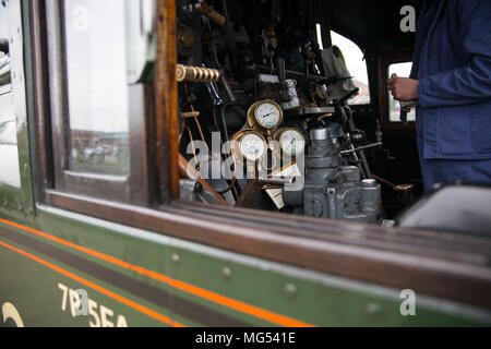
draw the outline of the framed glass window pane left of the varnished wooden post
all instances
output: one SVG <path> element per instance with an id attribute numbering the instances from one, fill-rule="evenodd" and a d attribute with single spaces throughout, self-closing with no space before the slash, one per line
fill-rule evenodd
<path id="1" fill-rule="evenodd" d="M 49 84 L 58 92 L 49 94 L 56 189 L 146 205 L 143 122 L 151 95 L 128 80 L 128 7 L 47 1 L 46 15 Z"/>

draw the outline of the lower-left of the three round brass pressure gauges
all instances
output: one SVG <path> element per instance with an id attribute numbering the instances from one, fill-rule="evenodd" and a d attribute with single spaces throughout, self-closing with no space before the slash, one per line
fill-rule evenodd
<path id="1" fill-rule="evenodd" d="M 256 131 L 238 132 L 231 142 L 233 156 L 242 163 L 246 158 L 249 163 L 260 161 L 267 152 L 267 143 L 264 136 Z"/>

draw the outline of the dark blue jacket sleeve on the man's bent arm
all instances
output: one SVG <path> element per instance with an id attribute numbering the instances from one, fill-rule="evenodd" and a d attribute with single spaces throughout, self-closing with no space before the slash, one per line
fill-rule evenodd
<path id="1" fill-rule="evenodd" d="M 459 1 L 458 26 L 470 62 L 419 82 L 420 106 L 468 105 L 491 98 L 491 1 Z"/>

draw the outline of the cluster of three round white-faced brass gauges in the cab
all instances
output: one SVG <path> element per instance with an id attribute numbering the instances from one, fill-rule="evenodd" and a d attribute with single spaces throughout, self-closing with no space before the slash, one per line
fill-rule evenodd
<path id="1" fill-rule="evenodd" d="M 306 140 L 300 131 L 278 129 L 283 123 L 283 110 L 275 101 L 266 99 L 253 104 L 248 111 L 248 123 L 250 128 L 237 132 L 232 139 L 237 159 L 258 163 L 266 156 L 268 149 L 278 153 L 271 146 L 271 141 L 276 141 L 279 151 L 290 158 L 303 153 Z"/>

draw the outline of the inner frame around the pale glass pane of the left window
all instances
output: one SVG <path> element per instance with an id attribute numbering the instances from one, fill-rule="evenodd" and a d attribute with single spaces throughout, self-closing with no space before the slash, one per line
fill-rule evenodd
<path id="1" fill-rule="evenodd" d="M 125 176 L 75 172 L 69 169 L 70 112 L 62 0 L 46 0 L 41 19 L 45 27 L 47 94 L 53 177 L 51 189 L 98 198 L 149 205 L 146 169 L 146 119 L 153 112 L 152 88 L 145 84 L 127 85 L 130 166 Z"/>

